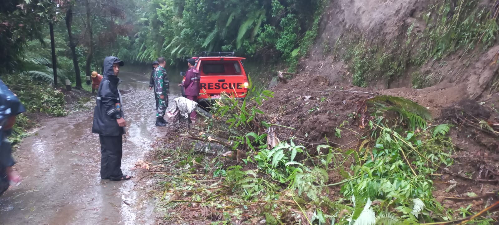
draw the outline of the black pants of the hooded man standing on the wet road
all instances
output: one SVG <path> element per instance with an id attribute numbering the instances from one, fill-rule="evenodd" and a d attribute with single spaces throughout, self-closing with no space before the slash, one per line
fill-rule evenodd
<path id="1" fill-rule="evenodd" d="M 102 136 L 100 139 L 100 177 L 102 179 L 123 176 L 121 172 L 121 157 L 123 156 L 123 136 Z"/>

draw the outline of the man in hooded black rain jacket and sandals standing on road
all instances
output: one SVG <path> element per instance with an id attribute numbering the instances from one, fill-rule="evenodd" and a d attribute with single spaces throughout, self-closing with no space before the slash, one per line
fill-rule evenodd
<path id="1" fill-rule="evenodd" d="M 100 139 L 100 177 L 111 181 L 124 181 L 132 178 L 123 175 L 121 157 L 123 155 L 123 135 L 126 122 L 123 118 L 121 94 L 118 85 L 119 68 L 123 61 L 114 56 L 104 59 L 104 78 L 97 91 L 92 133 Z"/>

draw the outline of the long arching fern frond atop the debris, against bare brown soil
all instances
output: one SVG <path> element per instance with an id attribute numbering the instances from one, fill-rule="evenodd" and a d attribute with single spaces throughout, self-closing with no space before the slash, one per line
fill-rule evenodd
<path id="1" fill-rule="evenodd" d="M 420 115 L 425 120 L 430 120 L 430 121 L 433 120 L 432 114 L 427 108 L 407 98 L 391 96 L 391 95 L 378 95 L 367 99 L 366 103 L 372 103 L 372 104 L 391 103 L 406 111 Z"/>

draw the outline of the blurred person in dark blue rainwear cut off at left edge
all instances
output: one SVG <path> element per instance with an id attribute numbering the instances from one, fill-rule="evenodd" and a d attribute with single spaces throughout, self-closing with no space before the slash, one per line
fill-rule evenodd
<path id="1" fill-rule="evenodd" d="M 15 117 L 26 111 L 19 99 L 0 80 L 0 195 L 10 183 L 18 185 L 21 177 L 12 170 L 15 164 L 12 158 L 12 147 L 7 137 L 12 132 Z"/>

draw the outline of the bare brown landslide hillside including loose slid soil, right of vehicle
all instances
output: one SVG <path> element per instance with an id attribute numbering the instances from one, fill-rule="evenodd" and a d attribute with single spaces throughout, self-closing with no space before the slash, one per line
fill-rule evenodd
<path id="1" fill-rule="evenodd" d="M 281 139 L 297 136 L 307 148 L 328 143 L 363 151 L 360 143 L 369 131 L 359 128 L 359 105 L 376 95 L 409 98 L 432 112 L 430 125 L 454 125 L 456 163 L 432 178 L 437 200 L 446 209 L 471 204 L 479 211 L 492 198 L 449 199 L 499 189 L 492 172 L 499 171 L 499 132 L 484 125 L 499 124 L 498 4 L 433 3 L 331 0 L 315 44 L 300 61 L 300 75 L 273 87 L 274 98 L 263 109 L 277 115 L 273 123 L 296 129 L 283 129 Z M 336 182 L 341 177 L 329 176 Z"/>

